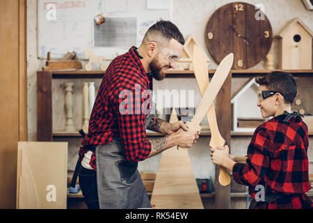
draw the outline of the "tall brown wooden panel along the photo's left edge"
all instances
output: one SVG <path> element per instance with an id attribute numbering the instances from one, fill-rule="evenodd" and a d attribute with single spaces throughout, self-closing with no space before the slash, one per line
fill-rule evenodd
<path id="1" fill-rule="evenodd" d="M 24 78 L 19 69 L 19 0 L 0 1 L 0 209 L 15 208 L 16 173 L 17 173 L 17 141 L 19 134 L 24 134 L 24 125 L 19 118 L 24 116 L 19 105 L 24 102 L 19 96 L 19 84 Z M 22 127 L 22 128 L 21 128 Z M 19 129 L 21 128 L 21 129 Z"/>

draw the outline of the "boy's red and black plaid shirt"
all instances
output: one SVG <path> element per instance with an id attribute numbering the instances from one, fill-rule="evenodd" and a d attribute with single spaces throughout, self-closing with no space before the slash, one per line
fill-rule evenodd
<path id="1" fill-rule="evenodd" d="M 256 208 L 307 208 L 312 201 L 305 192 L 311 189 L 307 160 L 307 125 L 300 116 L 283 121 L 285 114 L 271 118 L 254 132 L 248 146 L 247 164 L 234 164 L 233 178 L 248 185 L 255 198 L 257 185 L 265 194 L 287 195 L 271 203 L 258 202 Z"/>

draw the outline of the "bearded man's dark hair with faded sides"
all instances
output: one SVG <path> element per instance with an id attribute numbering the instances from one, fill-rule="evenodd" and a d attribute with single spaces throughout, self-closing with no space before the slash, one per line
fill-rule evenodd
<path id="1" fill-rule="evenodd" d="M 156 39 L 157 38 L 157 39 Z M 160 41 L 159 38 L 171 40 L 174 38 L 182 45 L 185 44 L 184 36 L 179 31 L 177 26 L 170 21 L 160 20 L 156 24 L 152 25 L 145 33 L 143 40 L 148 43 L 152 40 Z"/>

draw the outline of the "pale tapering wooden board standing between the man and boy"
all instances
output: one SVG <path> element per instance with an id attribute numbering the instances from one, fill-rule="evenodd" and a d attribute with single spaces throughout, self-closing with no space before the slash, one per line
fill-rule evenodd
<path id="1" fill-rule="evenodd" d="M 178 120 L 173 111 L 170 123 Z M 203 208 L 187 150 L 178 151 L 174 146 L 162 153 L 151 204 L 156 209 Z"/>

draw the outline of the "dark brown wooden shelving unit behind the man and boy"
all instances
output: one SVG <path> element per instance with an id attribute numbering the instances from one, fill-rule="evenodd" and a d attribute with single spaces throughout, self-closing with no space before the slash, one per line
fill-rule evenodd
<path id="1" fill-rule="evenodd" d="M 257 77 L 266 75 L 273 70 L 231 70 L 225 80 L 220 92 L 216 97 L 216 118 L 220 128 L 220 134 L 225 139 L 225 144 L 230 146 L 232 137 L 252 136 L 252 132 L 232 132 L 232 108 L 231 108 L 231 86 L 232 78 L 236 77 Z M 284 70 L 290 72 L 294 77 L 313 77 L 313 70 Z M 208 70 L 209 77 L 214 75 L 215 70 Z M 73 138 L 81 137 L 78 132 L 53 132 L 52 130 L 52 89 L 53 79 L 102 79 L 102 71 L 38 71 L 37 72 L 37 140 L 54 141 L 54 138 Z M 166 78 L 195 78 L 193 70 L 170 70 Z M 201 132 L 201 137 L 209 137 L 209 131 Z M 310 136 L 313 132 L 310 132 Z M 159 133 L 148 133 L 147 137 L 162 137 Z M 231 148 L 231 147 L 230 147 Z M 218 178 L 218 167 L 216 167 L 216 179 Z M 244 195 L 244 196 L 243 196 Z M 312 196 L 312 194 L 310 194 Z M 70 198 L 80 197 L 69 195 Z M 214 194 L 201 194 L 202 197 L 213 197 L 216 207 L 225 207 L 230 205 L 230 197 L 246 197 L 246 193 L 230 193 L 230 186 L 222 187 L 218 183 Z M 81 198 L 81 197 L 80 197 Z"/>

